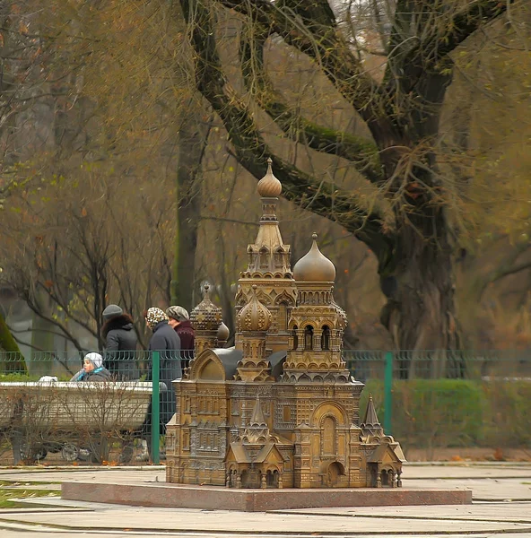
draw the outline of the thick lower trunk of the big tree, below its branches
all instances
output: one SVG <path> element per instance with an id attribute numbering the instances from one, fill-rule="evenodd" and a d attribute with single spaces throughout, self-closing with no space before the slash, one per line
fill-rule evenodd
<path id="1" fill-rule="evenodd" d="M 425 237 L 422 230 L 404 225 L 391 264 L 380 270 L 387 297 L 381 322 L 396 349 L 403 351 L 397 365 L 402 378 L 462 377 L 464 373 L 452 352 L 459 344 L 453 253 L 443 216 L 436 221 L 437 237 Z"/>

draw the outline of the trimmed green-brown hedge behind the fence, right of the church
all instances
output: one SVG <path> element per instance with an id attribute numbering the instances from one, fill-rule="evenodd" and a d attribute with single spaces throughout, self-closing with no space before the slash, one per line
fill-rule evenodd
<path id="1" fill-rule="evenodd" d="M 361 420 L 369 394 L 385 418 L 383 382 L 370 380 L 361 395 Z M 393 382 L 391 434 L 405 447 L 529 447 L 531 380 L 414 379 Z"/>

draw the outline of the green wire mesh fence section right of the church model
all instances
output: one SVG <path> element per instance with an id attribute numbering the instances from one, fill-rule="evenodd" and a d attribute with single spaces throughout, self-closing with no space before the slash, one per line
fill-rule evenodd
<path id="1" fill-rule="evenodd" d="M 384 430 L 408 449 L 520 448 L 531 455 L 531 352 L 345 351 Z M 498 450 L 496 450 L 498 449 Z"/>

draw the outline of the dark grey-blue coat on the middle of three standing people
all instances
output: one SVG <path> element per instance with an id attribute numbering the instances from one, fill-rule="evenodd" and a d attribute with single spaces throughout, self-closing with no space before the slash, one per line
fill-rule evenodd
<path id="1" fill-rule="evenodd" d="M 149 343 L 149 351 L 159 351 L 161 369 L 159 379 L 166 385 L 167 390 L 161 392 L 161 433 L 165 433 L 166 424 L 175 412 L 175 390 L 172 385 L 174 379 L 182 377 L 180 366 L 180 339 L 178 334 L 168 325 L 167 321 L 161 321 L 153 328 L 152 338 Z M 148 380 L 152 379 L 152 360 L 148 372 Z M 151 409 L 150 409 L 151 411 Z M 151 413 L 150 413 L 151 414 Z M 151 422 L 150 422 L 151 423 Z"/>

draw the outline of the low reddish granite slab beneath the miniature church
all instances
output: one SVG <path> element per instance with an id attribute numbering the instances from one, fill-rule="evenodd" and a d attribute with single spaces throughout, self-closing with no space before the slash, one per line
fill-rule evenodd
<path id="1" fill-rule="evenodd" d="M 471 490 L 323 489 L 236 490 L 170 483 L 64 482 L 63 499 L 157 508 L 202 508 L 265 512 L 292 508 L 462 505 Z"/>

